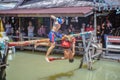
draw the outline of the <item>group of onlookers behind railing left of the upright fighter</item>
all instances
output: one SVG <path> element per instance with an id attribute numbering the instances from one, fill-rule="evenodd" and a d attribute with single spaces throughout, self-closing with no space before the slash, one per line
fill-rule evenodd
<path id="1" fill-rule="evenodd" d="M 32 24 L 31 21 L 28 22 L 27 30 L 24 27 L 18 27 L 15 31 L 13 30 L 11 23 L 8 21 L 5 24 L 5 32 L 6 32 L 6 35 L 14 35 L 14 36 L 18 36 L 19 34 L 22 34 L 23 36 L 28 36 L 28 37 L 34 37 L 34 36 L 46 37 L 47 36 L 45 25 L 41 24 L 40 26 L 38 26 L 37 32 L 35 32 L 35 26 Z"/>

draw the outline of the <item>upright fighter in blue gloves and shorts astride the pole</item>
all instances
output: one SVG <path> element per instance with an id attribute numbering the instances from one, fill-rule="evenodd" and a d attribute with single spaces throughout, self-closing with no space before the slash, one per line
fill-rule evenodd
<path id="1" fill-rule="evenodd" d="M 48 34 L 49 39 L 46 40 L 46 44 L 43 43 L 43 45 L 50 46 L 49 49 L 47 50 L 46 57 L 45 57 L 47 62 L 49 62 L 48 56 L 50 55 L 51 51 L 55 47 L 56 38 L 62 38 L 63 37 L 62 34 L 58 33 L 58 30 L 61 28 L 61 24 L 64 23 L 64 19 L 62 19 L 62 18 L 57 18 L 54 15 L 51 15 L 50 17 L 54 20 L 53 27 Z M 42 43 L 38 43 L 38 44 L 36 43 L 35 47 L 38 46 L 38 45 L 41 45 L 41 44 Z"/>

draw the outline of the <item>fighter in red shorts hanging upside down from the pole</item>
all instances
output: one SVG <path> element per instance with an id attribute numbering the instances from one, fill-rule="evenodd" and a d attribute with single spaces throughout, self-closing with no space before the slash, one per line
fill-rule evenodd
<path id="1" fill-rule="evenodd" d="M 61 47 L 64 49 L 64 57 L 51 57 L 49 58 L 49 61 L 69 59 L 69 62 L 73 62 L 75 55 L 75 43 L 76 39 L 74 37 L 69 36 L 69 40 L 68 38 L 63 39 L 61 42 Z"/>

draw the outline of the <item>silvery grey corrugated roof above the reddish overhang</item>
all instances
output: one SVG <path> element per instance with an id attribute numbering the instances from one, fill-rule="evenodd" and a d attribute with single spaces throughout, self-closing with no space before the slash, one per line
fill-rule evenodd
<path id="1" fill-rule="evenodd" d="M 96 6 L 105 5 L 104 3 L 96 3 Z M 89 0 L 31 0 L 31 2 L 23 3 L 18 8 L 51 8 L 51 7 L 71 7 L 71 6 L 94 6 Z"/>

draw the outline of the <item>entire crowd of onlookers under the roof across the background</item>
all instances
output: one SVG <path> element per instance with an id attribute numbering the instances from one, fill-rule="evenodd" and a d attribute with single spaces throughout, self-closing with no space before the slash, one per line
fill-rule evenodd
<path id="1" fill-rule="evenodd" d="M 74 34 L 74 33 L 79 33 L 81 30 L 83 31 L 93 31 L 94 27 L 91 22 L 89 24 L 82 23 L 81 27 L 79 29 L 76 29 L 76 27 L 70 23 L 67 27 L 64 27 L 65 25 L 62 25 L 62 29 L 59 30 L 60 33 L 63 34 Z M 35 27 L 31 21 L 28 22 L 27 30 L 25 30 L 24 27 L 19 27 L 17 30 L 15 30 L 15 36 L 19 36 L 19 34 L 22 34 L 22 36 L 28 36 L 28 37 L 47 37 L 48 36 L 48 30 L 44 24 L 40 24 L 37 27 L 37 31 L 35 32 Z M 97 25 L 97 39 L 98 42 L 102 42 L 103 44 L 105 43 L 105 37 L 107 35 L 112 35 L 112 24 L 109 20 L 104 21 L 102 24 Z M 5 31 L 7 35 L 12 35 L 13 34 L 13 27 L 12 25 L 7 22 L 5 24 Z M 26 33 L 27 31 L 27 33 Z M 88 36 L 86 36 L 88 37 Z M 105 47 L 105 45 L 103 45 Z"/>

